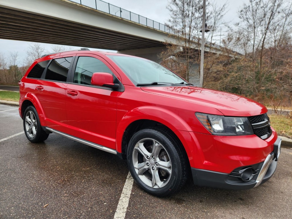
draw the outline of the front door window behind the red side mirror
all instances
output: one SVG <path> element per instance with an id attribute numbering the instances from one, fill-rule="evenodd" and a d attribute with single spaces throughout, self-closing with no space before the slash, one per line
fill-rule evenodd
<path id="1" fill-rule="evenodd" d="M 94 72 L 107 72 L 113 74 L 112 71 L 97 58 L 80 56 L 75 69 L 74 83 L 91 85 L 91 77 Z"/>

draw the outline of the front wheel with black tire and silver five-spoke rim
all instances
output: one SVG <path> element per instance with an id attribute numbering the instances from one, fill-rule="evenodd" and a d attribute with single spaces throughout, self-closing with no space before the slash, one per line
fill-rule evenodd
<path id="1" fill-rule="evenodd" d="M 147 128 L 135 133 L 127 149 L 128 167 L 135 182 L 157 197 L 179 190 L 188 173 L 182 147 L 165 128 Z"/>

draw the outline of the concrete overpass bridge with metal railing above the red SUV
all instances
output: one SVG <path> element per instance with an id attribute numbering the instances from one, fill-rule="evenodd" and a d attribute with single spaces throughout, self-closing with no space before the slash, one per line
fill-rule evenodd
<path id="1" fill-rule="evenodd" d="M 164 42 L 175 43 L 173 33 L 164 24 L 100 0 L 0 2 L 1 39 L 117 50 L 159 62 Z"/>

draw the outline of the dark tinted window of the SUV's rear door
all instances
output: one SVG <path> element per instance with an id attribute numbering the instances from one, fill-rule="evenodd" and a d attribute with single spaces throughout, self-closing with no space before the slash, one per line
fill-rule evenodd
<path id="1" fill-rule="evenodd" d="M 49 65 L 45 79 L 66 81 L 72 57 L 53 59 Z"/>

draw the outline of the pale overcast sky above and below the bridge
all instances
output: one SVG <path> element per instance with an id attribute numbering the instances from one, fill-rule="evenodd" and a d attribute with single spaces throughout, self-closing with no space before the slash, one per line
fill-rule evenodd
<path id="1" fill-rule="evenodd" d="M 168 0 L 104 0 L 115 6 L 124 8 L 133 13 L 147 17 L 160 23 L 167 22 L 170 17 L 169 11 L 166 9 Z M 248 0 L 211 0 L 217 4 L 223 5 L 227 3 L 228 12 L 224 16 L 225 22 L 230 24 L 238 21 L 237 11 Z M 22 64 L 22 60 L 26 57 L 26 50 L 30 42 L 4 40 L 0 39 L 0 52 L 4 53 L 6 57 L 10 52 L 18 51 L 19 64 Z M 48 51 L 51 51 L 52 44 L 42 44 Z M 76 47 L 77 48 L 77 47 Z M 79 48 L 79 47 L 78 47 Z"/>

